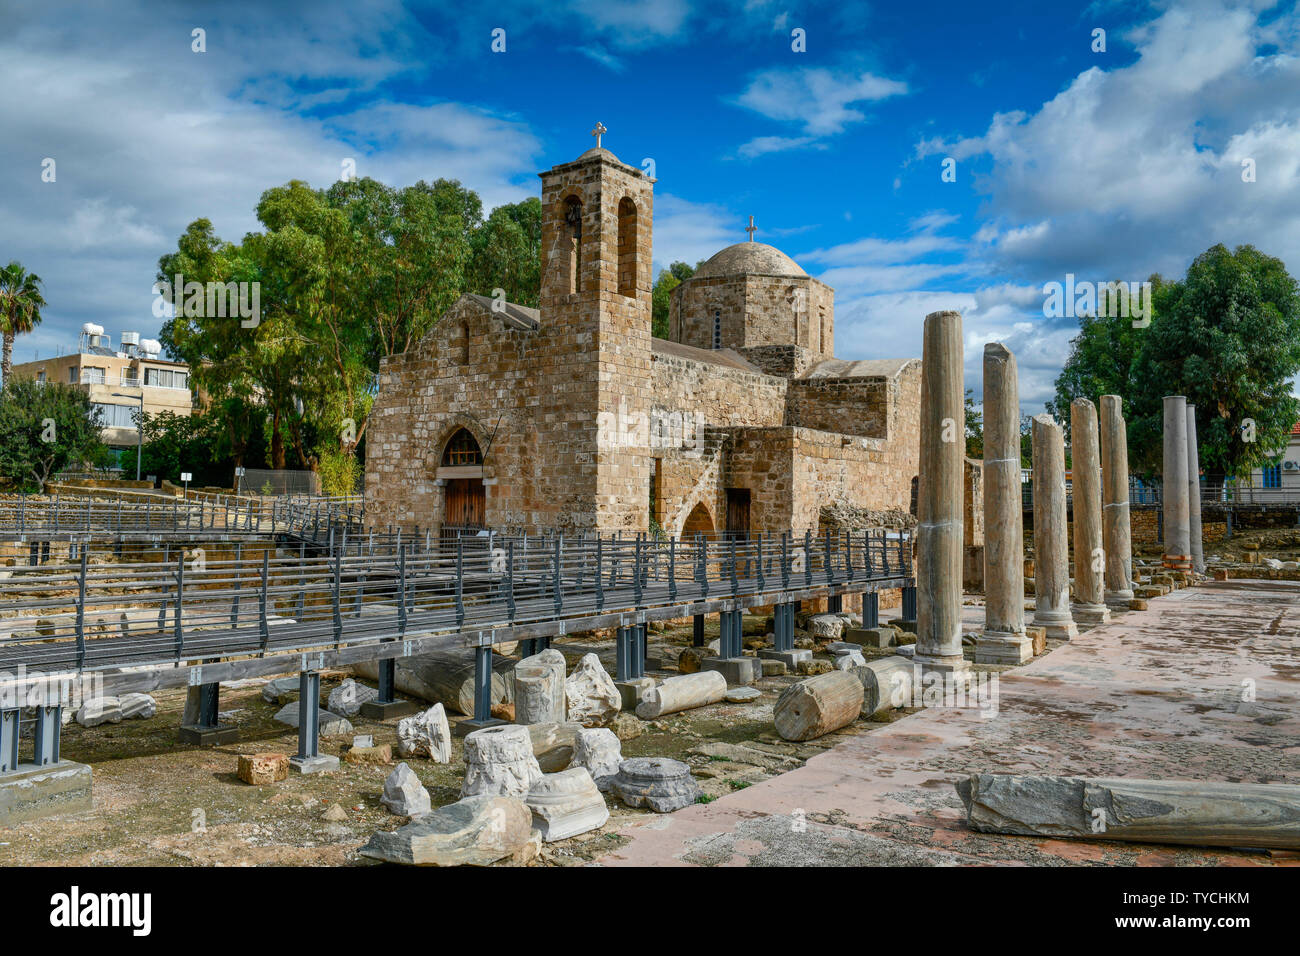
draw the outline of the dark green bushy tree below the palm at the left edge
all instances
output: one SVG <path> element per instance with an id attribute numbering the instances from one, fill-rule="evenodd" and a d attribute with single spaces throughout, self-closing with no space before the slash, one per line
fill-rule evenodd
<path id="1" fill-rule="evenodd" d="M 105 455 L 103 427 L 84 389 L 32 378 L 6 381 L 0 389 L 0 477 L 44 489 L 58 471 L 99 464 Z"/>

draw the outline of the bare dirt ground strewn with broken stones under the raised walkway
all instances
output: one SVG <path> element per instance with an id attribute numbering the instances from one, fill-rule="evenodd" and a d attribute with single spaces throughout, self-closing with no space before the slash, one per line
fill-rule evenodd
<path id="1" fill-rule="evenodd" d="M 708 622 L 707 639 L 718 636 L 716 618 Z M 764 620 L 746 615 L 746 639 L 760 637 Z M 662 656 L 672 676 L 681 649 L 690 644 L 689 623 L 650 633 L 649 654 Z M 556 643 L 572 666 L 588 650 L 598 650 L 612 671 L 612 644 L 592 635 L 575 635 Z M 866 652 L 871 656 L 871 652 Z M 889 652 L 876 652 L 887 654 Z M 829 659 L 827 654 L 819 654 Z M 346 674 L 326 672 L 322 695 Z M 806 760 L 840 740 L 870 732 L 879 723 L 858 721 L 850 727 L 803 744 L 781 740 L 772 728 L 772 708 L 794 675 L 764 678 L 762 696 L 748 704 L 715 704 L 672 714 L 653 722 L 625 719 L 640 735 L 623 740 L 624 757 L 667 756 L 686 761 L 703 801 L 733 793 L 776 774 L 802 766 Z M 376 830 L 393 830 L 406 822 L 381 804 L 385 777 L 396 765 L 396 721 L 377 723 L 360 715 L 350 718 L 355 734 L 370 734 L 376 744 L 391 744 L 394 763 L 359 766 L 342 762 L 329 774 L 303 777 L 291 773 L 281 783 L 254 787 L 235 775 L 238 754 L 296 752 L 296 731 L 272 718 L 278 704 L 263 700 L 261 687 L 222 688 L 224 721 L 239 730 L 238 743 L 200 748 L 177 739 L 185 691 L 155 695 L 157 713 L 150 719 L 117 724 L 64 728 L 62 756 L 94 769 L 91 810 L 60 814 L 13 827 L 0 827 L 0 865 L 194 865 L 256 866 L 372 865 L 358 851 Z M 887 719 L 911 713 L 901 709 Z M 627 715 L 630 718 L 630 715 Z M 460 718 L 451 714 L 455 723 Z M 321 752 L 339 754 L 351 735 L 322 737 Z M 456 801 L 464 775 L 462 739 L 452 743 L 447 765 L 428 758 L 407 763 L 429 790 L 434 806 Z M 540 865 L 568 866 L 593 860 L 620 845 L 618 831 L 649 810 L 623 806 L 607 799 L 610 821 L 560 843 L 545 844 Z M 325 812 L 334 804 L 346 819 L 330 822 Z M 337 816 L 337 814 L 335 814 Z"/>

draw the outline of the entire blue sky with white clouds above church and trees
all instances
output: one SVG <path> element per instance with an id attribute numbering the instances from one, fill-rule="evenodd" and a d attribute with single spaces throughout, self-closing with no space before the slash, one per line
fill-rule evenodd
<path id="1" fill-rule="evenodd" d="M 1300 273 L 1295 0 L 46 3 L 3 22 L 0 259 L 49 300 L 20 362 L 84 321 L 155 334 L 157 258 L 199 216 L 255 229 L 269 186 L 355 159 L 491 207 L 536 195 L 597 120 L 623 160 L 654 161 L 656 268 L 744 239 L 753 215 L 835 286 L 840 355 L 916 355 L 924 315 L 958 308 L 967 385 L 1004 341 L 1026 411 L 1075 326 L 1043 316 L 1044 282 L 1182 274 L 1216 242 Z"/>

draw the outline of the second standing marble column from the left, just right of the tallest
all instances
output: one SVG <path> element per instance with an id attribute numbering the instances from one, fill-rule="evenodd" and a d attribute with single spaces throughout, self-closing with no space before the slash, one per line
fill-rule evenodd
<path id="1" fill-rule="evenodd" d="M 1024 512 L 1020 501 L 1020 389 L 1015 355 L 984 346 L 984 632 L 975 663 L 1034 657 L 1024 633 Z"/>

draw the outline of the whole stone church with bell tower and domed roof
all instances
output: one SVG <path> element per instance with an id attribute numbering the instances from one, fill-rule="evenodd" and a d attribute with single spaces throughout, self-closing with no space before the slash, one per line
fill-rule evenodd
<path id="1" fill-rule="evenodd" d="M 919 359 L 837 359 L 833 290 L 751 230 L 653 338 L 654 179 L 599 144 L 541 179 L 541 307 L 463 295 L 381 365 L 367 523 L 802 533 L 824 505 L 913 507 Z"/>

